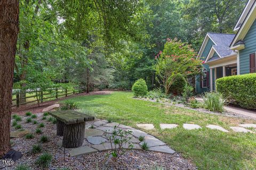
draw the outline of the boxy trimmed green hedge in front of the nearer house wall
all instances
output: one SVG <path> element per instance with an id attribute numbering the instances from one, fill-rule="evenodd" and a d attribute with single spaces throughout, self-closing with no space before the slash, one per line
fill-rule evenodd
<path id="1" fill-rule="evenodd" d="M 217 91 L 247 109 L 256 109 L 256 73 L 217 79 Z"/>

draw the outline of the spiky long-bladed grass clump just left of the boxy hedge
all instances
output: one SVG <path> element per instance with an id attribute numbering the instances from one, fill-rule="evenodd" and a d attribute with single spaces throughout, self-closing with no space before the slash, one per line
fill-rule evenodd
<path id="1" fill-rule="evenodd" d="M 210 111 L 224 111 L 224 105 L 227 103 L 225 98 L 220 92 L 206 92 L 203 96 L 204 105 Z"/>

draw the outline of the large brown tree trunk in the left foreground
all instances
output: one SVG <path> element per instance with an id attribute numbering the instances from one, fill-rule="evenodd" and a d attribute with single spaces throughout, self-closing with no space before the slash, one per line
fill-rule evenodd
<path id="1" fill-rule="evenodd" d="M 14 57 L 18 37 L 19 1 L 0 1 L 0 158 L 10 151 Z"/>

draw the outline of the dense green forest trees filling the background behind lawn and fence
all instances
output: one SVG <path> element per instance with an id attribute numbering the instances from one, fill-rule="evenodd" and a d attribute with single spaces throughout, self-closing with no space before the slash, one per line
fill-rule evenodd
<path id="1" fill-rule="evenodd" d="M 233 33 L 246 2 L 21 0 L 14 88 L 131 89 L 142 78 L 153 89 L 155 56 L 167 38 L 198 52 L 206 32 Z"/>

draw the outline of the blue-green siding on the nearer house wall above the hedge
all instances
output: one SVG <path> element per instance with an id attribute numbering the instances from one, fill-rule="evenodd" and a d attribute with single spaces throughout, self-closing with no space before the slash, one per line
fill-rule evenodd
<path id="1" fill-rule="evenodd" d="M 240 74 L 250 73 L 250 54 L 256 52 L 256 21 L 243 39 L 245 47 L 239 50 Z"/>

